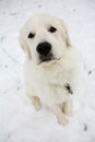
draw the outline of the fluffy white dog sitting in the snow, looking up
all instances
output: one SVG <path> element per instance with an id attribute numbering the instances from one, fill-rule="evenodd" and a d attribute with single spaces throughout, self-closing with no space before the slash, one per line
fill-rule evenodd
<path id="1" fill-rule="evenodd" d="M 27 57 L 26 94 L 37 110 L 44 104 L 66 125 L 80 63 L 62 20 L 49 14 L 31 19 L 21 29 L 20 42 Z"/>

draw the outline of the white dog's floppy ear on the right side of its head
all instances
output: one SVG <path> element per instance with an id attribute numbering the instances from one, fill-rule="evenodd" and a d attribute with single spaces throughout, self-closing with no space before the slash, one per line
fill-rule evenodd
<path id="1" fill-rule="evenodd" d="M 60 20 L 60 27 L 61 27 L 62 38 L 66 40 L 67 47 L 71 47 L 71 40 L 68 34 L 68 29 L 62 20 Z"/>

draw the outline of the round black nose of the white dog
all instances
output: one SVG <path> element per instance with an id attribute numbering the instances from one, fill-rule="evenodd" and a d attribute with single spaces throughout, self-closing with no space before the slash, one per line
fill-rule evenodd
<path id="1" fill-rule="evenodd" d="M 51 45 L 47 42 L 40 43 L 38 44 L 36 50 L 41 56 L 47 56 L 51 50 Z"/>

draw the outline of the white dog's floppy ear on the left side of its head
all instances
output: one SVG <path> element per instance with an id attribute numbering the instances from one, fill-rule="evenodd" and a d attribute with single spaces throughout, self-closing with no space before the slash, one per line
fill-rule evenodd
<path id="1" fill-rule="evenodd" d="M 20 33 L 20 45 L 23 48 L 23 50 L 26 52 L 27 59 L 31 59 L 32 56 L 31 56 L 29 47 L 28 47 L 26 40 L 24 39 L 24 35 L 22 32 Z"/>

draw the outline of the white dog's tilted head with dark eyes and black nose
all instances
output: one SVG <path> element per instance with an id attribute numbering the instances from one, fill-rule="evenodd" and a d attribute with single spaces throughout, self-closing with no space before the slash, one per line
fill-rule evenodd
<path id="1" fill-rule="evenodd" d="M 22 48 L 36 64 L 61 59 L 71 47 L 63 22 L 49 14 L 37 15 L 22 27 L 20 33 Z"/>

